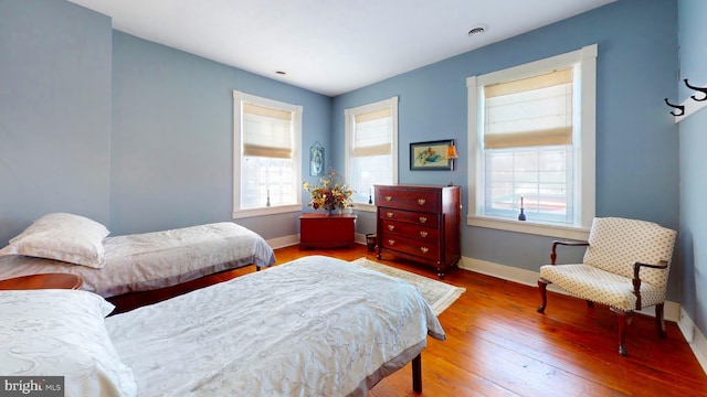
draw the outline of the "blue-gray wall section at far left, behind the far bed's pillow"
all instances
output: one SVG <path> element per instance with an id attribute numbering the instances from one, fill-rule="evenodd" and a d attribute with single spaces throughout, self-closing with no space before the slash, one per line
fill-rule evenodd
<path id="1" fill-rule="evenodd" d="M 0 2 L 0 247 L 36 217 L 109 219 L 110 19 Z"/>

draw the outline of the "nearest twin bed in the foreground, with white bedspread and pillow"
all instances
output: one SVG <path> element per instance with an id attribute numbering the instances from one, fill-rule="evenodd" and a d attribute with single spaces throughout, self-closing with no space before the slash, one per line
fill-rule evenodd
<path id="1" fill-rule="evenodd" d="M 86 290 L 0 291 L 0 374 L 61 375 L 67 396 L 366 396 L 412 361 L 420 393 L 426 336 L 444 340 L 415 287 L 321 256 L 113 309 Z"/>

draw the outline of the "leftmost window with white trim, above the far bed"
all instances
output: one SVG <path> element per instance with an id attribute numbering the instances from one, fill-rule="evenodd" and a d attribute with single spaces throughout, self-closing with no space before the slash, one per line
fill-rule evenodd
<path id="1" fill-rule="evenodd" d="M 302 210 L 302 106 L 233 92 L 233 217 Z"/>

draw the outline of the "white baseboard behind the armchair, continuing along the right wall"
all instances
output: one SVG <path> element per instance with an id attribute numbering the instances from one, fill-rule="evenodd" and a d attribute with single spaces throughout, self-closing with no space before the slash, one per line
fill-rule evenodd
<path id="1" fill-rule="evenodd" d="M 482 275 L 496 277 L 499 279 L 518 282 L 526 286 L 537 286 L 539 271 L 518 269 L 513 266 L 498 265 L 489 261 L 462 257 L 458 267 L 464 270 L 475 271 Z M 548 290 L 568 294 L 566 291 L 550 285 Z M 538 298 L 539 299 L 539 298 Z M 640 311 L 642 314 L 655 316 L 655 309 L 647 308 Z M 695 326 L 693 320 L 683 310 L 679 303 L 666 301 L 664 310 L 665 320 L 677 323 L 685 340 L 689 343 L 695 357 L 707 374 L 707 339 Z"/>

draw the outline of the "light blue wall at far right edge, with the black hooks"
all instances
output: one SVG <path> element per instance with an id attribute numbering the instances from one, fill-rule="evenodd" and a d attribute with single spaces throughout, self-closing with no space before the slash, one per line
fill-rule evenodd
<path id="1" fill-rule="evenodd" d="M 674 103 L 695 95 L 690 85 L 707 87 L 707 2 L 679 0 L 680 78 Z M 683 259 L 680 302 L 703 335 L 707 335 L 707 109 L 679 124 L 680 162 L 680 256 Z"/>

